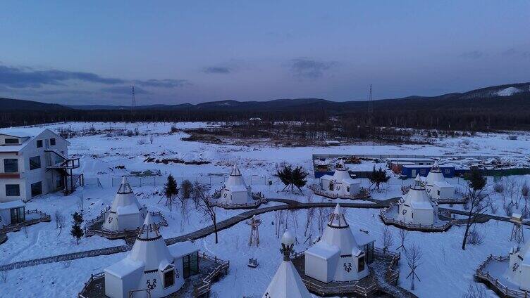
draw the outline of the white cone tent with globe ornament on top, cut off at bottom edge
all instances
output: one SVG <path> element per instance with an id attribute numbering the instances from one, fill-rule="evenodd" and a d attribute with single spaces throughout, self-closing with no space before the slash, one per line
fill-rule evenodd
<path id="1" fill-rule="evenodd" d="M 294 243 L 295 237 L 289 231 L 283 233 L 281 248 L 283 261 L 262 298 L 312 298 L 290 259 Z"/>

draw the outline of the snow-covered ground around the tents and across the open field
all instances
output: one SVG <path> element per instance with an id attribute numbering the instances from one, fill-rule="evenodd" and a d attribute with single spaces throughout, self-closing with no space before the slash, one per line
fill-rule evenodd
<path id="1" fill-rule="evenodd" d="M 8 241 L 0 245 L 0 264 L 14 261 L 36 259 L 67 252 L 93 250 L 101 247 L 123 245 L 123 240 L 107 240 L 99 236 L 83 238 L 79 245 L 70 236 L 71 216 L 78 211 L 80 196 L 84 202 L 84 218 L 92 219 L 99 215 L 104 205 L 110 205 L 118 185 L 113 182 L 123 174 L 130 171 L 159 170 L 165 177 L 173 174 L 180 183 L 182 179 L 197 179 L 199 181 L 212 181 L 214 188 L 218 188 L 222 181 L 221 174 L 227 174 L 233 162 L 238 162 L 247 183 L 252 179 L 253 191 L 262 191 L 267 197 L 290 198 L 292 200 L 307 200 L 307 197 L 288 193 L 281 193 L 280 186 L 273 174 L 283 162 L 302 165 L 307 171 L 312 172 L 312 154 L 417 154 L 417 155 L 497 155 L 518 160 L 528 158 L 530 136 L 518 133 L 517 140 L 508 138 L 508 134 L 478 134 L 474 137 L 445 138 L 437 140 L 435 145 L 347 145 L 333 148 L 273 148 L 265 145 L 259 147 L 215 145 L 210 143 L 185 142 L 180 138 L 183 133 L 168 134 L 171 123 L 138 124 L 139 136 L 106 136 L 97 134 L 93 136 L 80 136 L 70 138 L 70 155 L 81 158 L 80 171 L 84 173 L 87 185 L 78 188 L 72 195 L 64 196 L 61 193 L 43 195 L 27 203 L 27 209 L 41 209 L 52 215 L 50 223 L 41 223 L 27 228 L 27 238 L 22 231 L 8 233 Z M 204 127 L 205 123 L 177 123 L 179 129 L 191 127 Z M 123 128 L 123 123 L 67 123 L 51 124 L 47 127 L 54 131 L 60 128 L 74 131 L 89 132 L 94 129 Z M 134 129 L 135 124 L 126 124 L 127 129 Z M 153 143 L 149 143 L 149 136 L 153 135 Z M 525 157 L 526 155 L 526 157 Z M 158 159 L 178 159 L 184 162 L 209 162 L 207 164 L 182 164 L 182 163 L 154 163 L 145 162 L 147 157 Z M 255 175 L 255 176 L 252 176 Z M 114 177 L 114 179 L 113 179 Z M 221 178 L 219 178 L 221 177 Z M 97 187 L 99 179 L 103 188 Z M 163 187 L 164 178 L 156 178 L 156 182 L 144 179 L 142 186 L 133 186 L 139 195 L 140 203 L 147 205 L 151 211 L 161 211 L 168 220 L 168 226 L 161 228 L 164 238 L 174 237 L 196 231 L 208 226 L 209 219 L 195 211 L 189 212 L 189 217 L 183 219 L 178 209 L 170 211 L 164 200 L 159 202 L 157 194 Z M 274 183 L 269 186 L 266 181 Z M 517 181 L 520 188 L 524 181 L 530 185 L 530 177 L 517 176 L 510 178 Z M 504 179 L 506 188 L 511 180 Z M 501 181 L 502 182 L 502 181 Z M 379 193 L 372 193 L 376 199 L 397 197 L 401 194 L 402 185 L 409 185 L 412 181 L 391 179 L 383 186 Z M 464 186 L 461 179 L 450 179 L 450 183 Z M 156 185 L 155 185 L 156 184 Z M 362 186 L 368 187 L 369 181 L 362 179 Z M 498 207 L 496 214 L 505 215 L 502 197 L 510 202 L 510 193 L 495 193 L 493 179 L 488 180 L 488 187 L 492 193 L 493 204 Z M 309 193 L 309 190 L 304 190 Z M 516 197 L 517 199 L 517 197 Z M 321 200 L 314 197 L 314 201 Z M 338 200 L 340 202 L 340 200 Z M 524 201 L 523 203 L 524 204 Z M 273 205 L 273 203 L 269 203 Z M 444 206 L 447 207 L 447 206 Z M 455 206 L 456 209 L 462 208 Z M 519 210 L 522 205 L 519 205 Z M 61 235 L 53 220 L 53 214 L 60 210 L 66 216 L 67 227 Z M 227 219 L 241 213 L 241 210 L 218 209 L 218 221 Z M 352 229 L 361 228 L 370 231 L 377 239 L 376 246 L 381 246 L 381 230 L 383 224 L 378 218 L 378 209 L 347 209 L 347 220 Z M 488 210 L 492 213 L 491 210 Z M 295 245 L 295 250 L 302 251 L 307 248 L 303 244 L 304 225 L 306 221 L 305 210 L 285 212 L 288 226 L 297 235 L 300 244 Z M 276 272 L 281 262 L 278 252 L 280 240 L 275 235 L 275 221 L 273 212 L 261 216 L 263 224 L 259 227 L 260 247 L 248 247 L 249 226 L 242 222 L 219 233 L 218 244 L 214 243 L 214 235 L 198 240 L 196 243 L 201 250 L 208 254 L 215 254 L 221 259 L 230 260 L 228 276 L 213 286 L 213 292 L 218 297 L 261 297 L 271 277 Z M 295 222 L 297 224 L 295 224 Z M 463 227 L 452 227 L 445 233 L 419 233 L 409 232 L 407 242 L 421 245 L 424 253 L 422 263 L 417 271 L 421 282 L 417 283 L 414 294 L 419 297 L 460 297 L 470 281 L 476 267 L 489 254 L 507 254 L 513 242 L 510 242 L 512 226 L 505 222 L 489 221 L 477 226 L 485 233 L 483 244 L 468 245 L 466 251 L 460 249 Z M 398 229 L 391 227 L 394 233 L 395 250 L 398 243 Z M 283 232 L 283 231 L 282 231 Z M 313 223 L 307 235 L 316 237 L 319 234 L 318 226 Z M 8 271 L 4 284 L 0 280 L 0 297 L 75 297 L 81 290 L 83 283 L 91 273 L 103 271 L 106 266 L 123 258 L 125 254 L 78 259 L 71 262 L 46 264 Z M 259 261 L 258 268 L 247 267 L 250 257 Z M 400 262 L 400 285 L 408 289 L 409 281 L 405 280 L 409 273 L 404 259 Z M 493 292 L 489 292 L 495 297 Z"/>

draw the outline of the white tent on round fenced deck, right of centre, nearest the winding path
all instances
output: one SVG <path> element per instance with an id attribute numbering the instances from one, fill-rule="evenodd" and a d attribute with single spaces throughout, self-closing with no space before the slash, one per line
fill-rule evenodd
<path id="1" fill-rule="evenodd" d="M 436 215 L 436 204 L 431 200 L 429 194 L 416 176 L 414 186 L 409 192 L 402 196 L 398 202 L 398 220 L 407 224 L 431 225 Z"/>

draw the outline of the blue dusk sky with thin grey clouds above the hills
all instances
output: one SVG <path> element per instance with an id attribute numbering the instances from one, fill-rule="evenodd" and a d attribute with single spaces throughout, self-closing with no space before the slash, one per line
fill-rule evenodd
<path id="1" fill-rule="evenodd" d="M 434 96 L 530 81 L 530 1 L 2 1 L 0 97 Z"/>

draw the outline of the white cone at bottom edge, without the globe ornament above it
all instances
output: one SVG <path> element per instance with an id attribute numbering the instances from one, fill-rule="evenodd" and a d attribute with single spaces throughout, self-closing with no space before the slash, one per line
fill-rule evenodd
<path id="1" fill-rule="evenodd" d="M 282 261 L 263 298 L 312 298 L 291 261 Z"/>

